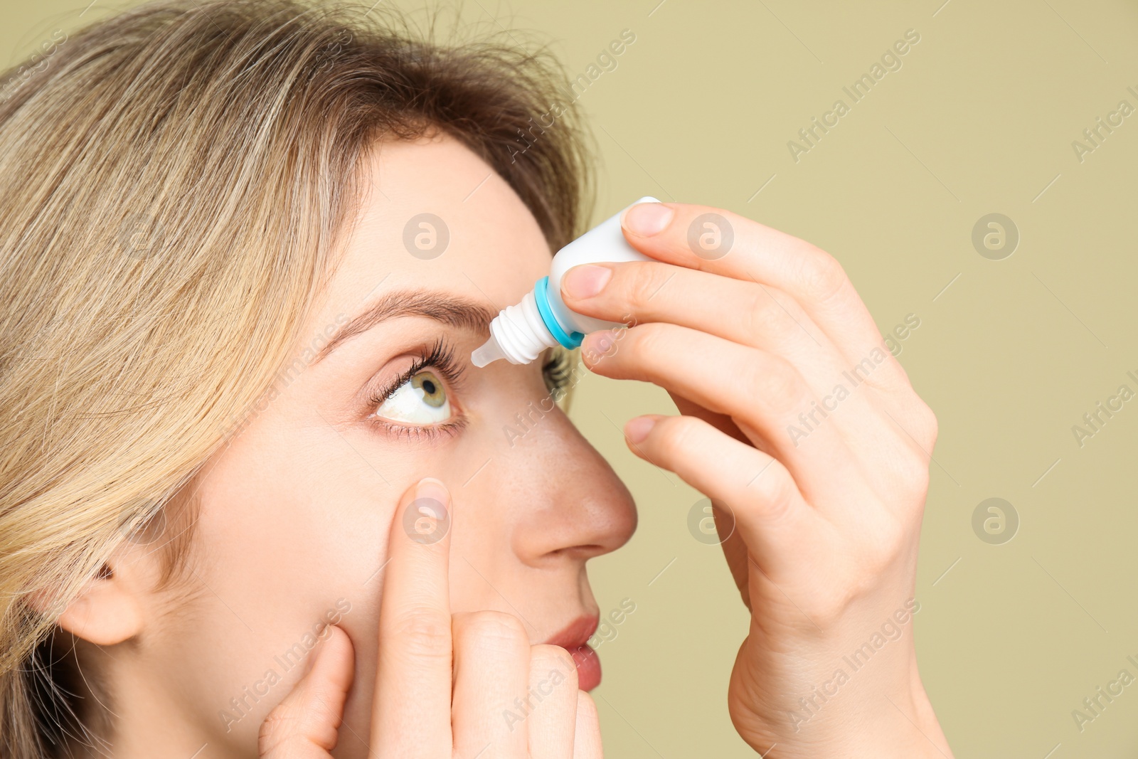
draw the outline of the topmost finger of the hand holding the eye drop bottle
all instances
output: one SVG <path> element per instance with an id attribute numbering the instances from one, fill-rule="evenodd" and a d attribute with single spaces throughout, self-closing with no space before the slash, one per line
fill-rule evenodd
<path id="1" fill-rule="evenodd" d="M 658 261 L 769 286 L 786 292 L 850 365 L 887 354 L 874 383 L 908 386 L 873 316 L 838 261 L 785 232 L 723 208 L 641 203 L 620 220 L 625 239 Z M 769 295 L 769 292 L 768 292 Z M 772 296 L 774 297 L 774 296 Z M 888 374 L 887 374 L 888 372 Z"/>

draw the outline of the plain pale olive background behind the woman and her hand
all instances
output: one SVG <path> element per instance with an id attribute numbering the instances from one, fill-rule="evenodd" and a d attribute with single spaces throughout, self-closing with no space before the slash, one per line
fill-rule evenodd
<path id="1" fill-rule="evenodd" d="M 1120 100 L 1138 108 L 1138 6 L 658 2 L 476 0 L 463 13 L 520 40 L 537 32 L 572 75 L 635 33 L 578 101 L 600 149 L 597 220 L 643 195 L 729 208 L 835 255 L 882 332 L 921 320 L 900 361 L 940 440 L 915 625 L 945 732 L 962 758 L 1133 757 L 1138 684 L 1081 733 L 1072 710 L 1121 669 L 1138 676 L 1138 399 L 1081 447 L 1072 427 L 1120 385 L 1138 391 L 1138 114 L 1082 162 L 1072 141 Z M 5 63 L 112 10 L 84 8 L 7 0 Z M 900 71 L 852 104 L 842 86 L 910 28 L 921 41 Z M 839 98 L 850 113 L 795 162 L 787 141 Z M 990 213 L 1021 238 L 1000 261 L 972 244 Z M 723 391 L 737 391 L 731 376 Z M 600 647 L 605 745 L 754 756 L 725 698 L 747 614 L 719 550 L 688 533 L 701 496 L 620 432 L 634 414 L 674 411 L 658 388 L 596 377 L 574 401 L 641 509 L 628 547 L 592 571 L 602 611 L 636 604 Z M 1019 514 L 1011 542 L 973 531 L 989 497 Z"/>

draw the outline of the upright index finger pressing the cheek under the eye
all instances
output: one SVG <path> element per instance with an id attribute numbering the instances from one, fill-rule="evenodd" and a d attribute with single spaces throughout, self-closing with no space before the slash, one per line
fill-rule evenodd
<path id="1" fill-rule="evenodd" d="M 451 496 L 424 478 L 399 501 L 379 605 L 371 745 L 381 757 L 450 759 Z"/>

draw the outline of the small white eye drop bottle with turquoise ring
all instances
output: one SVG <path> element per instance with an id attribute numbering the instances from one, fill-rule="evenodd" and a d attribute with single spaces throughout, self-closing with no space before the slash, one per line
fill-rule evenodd
<path id="1" fill-rule="evenodd" d="M 644 197 L 636 203 L 660 203 Z M 651 261 L 638 253 L 620 231 L 620 215 L 601 222 L 553 256 L 550 275 L 537 280 L 521 303 L 504 308 L 490 322 L 490 339 L 470 354 L 476 366 L 505 358 L 511 364 L 528 364 L 546 348 L 563 345 L 576 348 L 586 332 L 621 327 L 570 311 L 561 300 L 561 278 L 578 264 L 595 262 Z"/>

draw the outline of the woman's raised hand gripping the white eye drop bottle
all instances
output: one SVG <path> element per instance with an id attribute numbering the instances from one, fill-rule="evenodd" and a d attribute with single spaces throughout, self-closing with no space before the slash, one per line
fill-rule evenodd
<path id="1" fill-rule="evenodd" d="M 774 757 L 949 757 L 912 624 L 932 412 L 826 253 L 702 206 L 641 204 L 622 223 L 655 261 L 574 267 L 562 297 L 632 324 L 586 336 L 592 371 L 659 385 L 683 414 L 625 435 L 729 533 L 751 610 L 728 693 L 740 735 Z"/>

